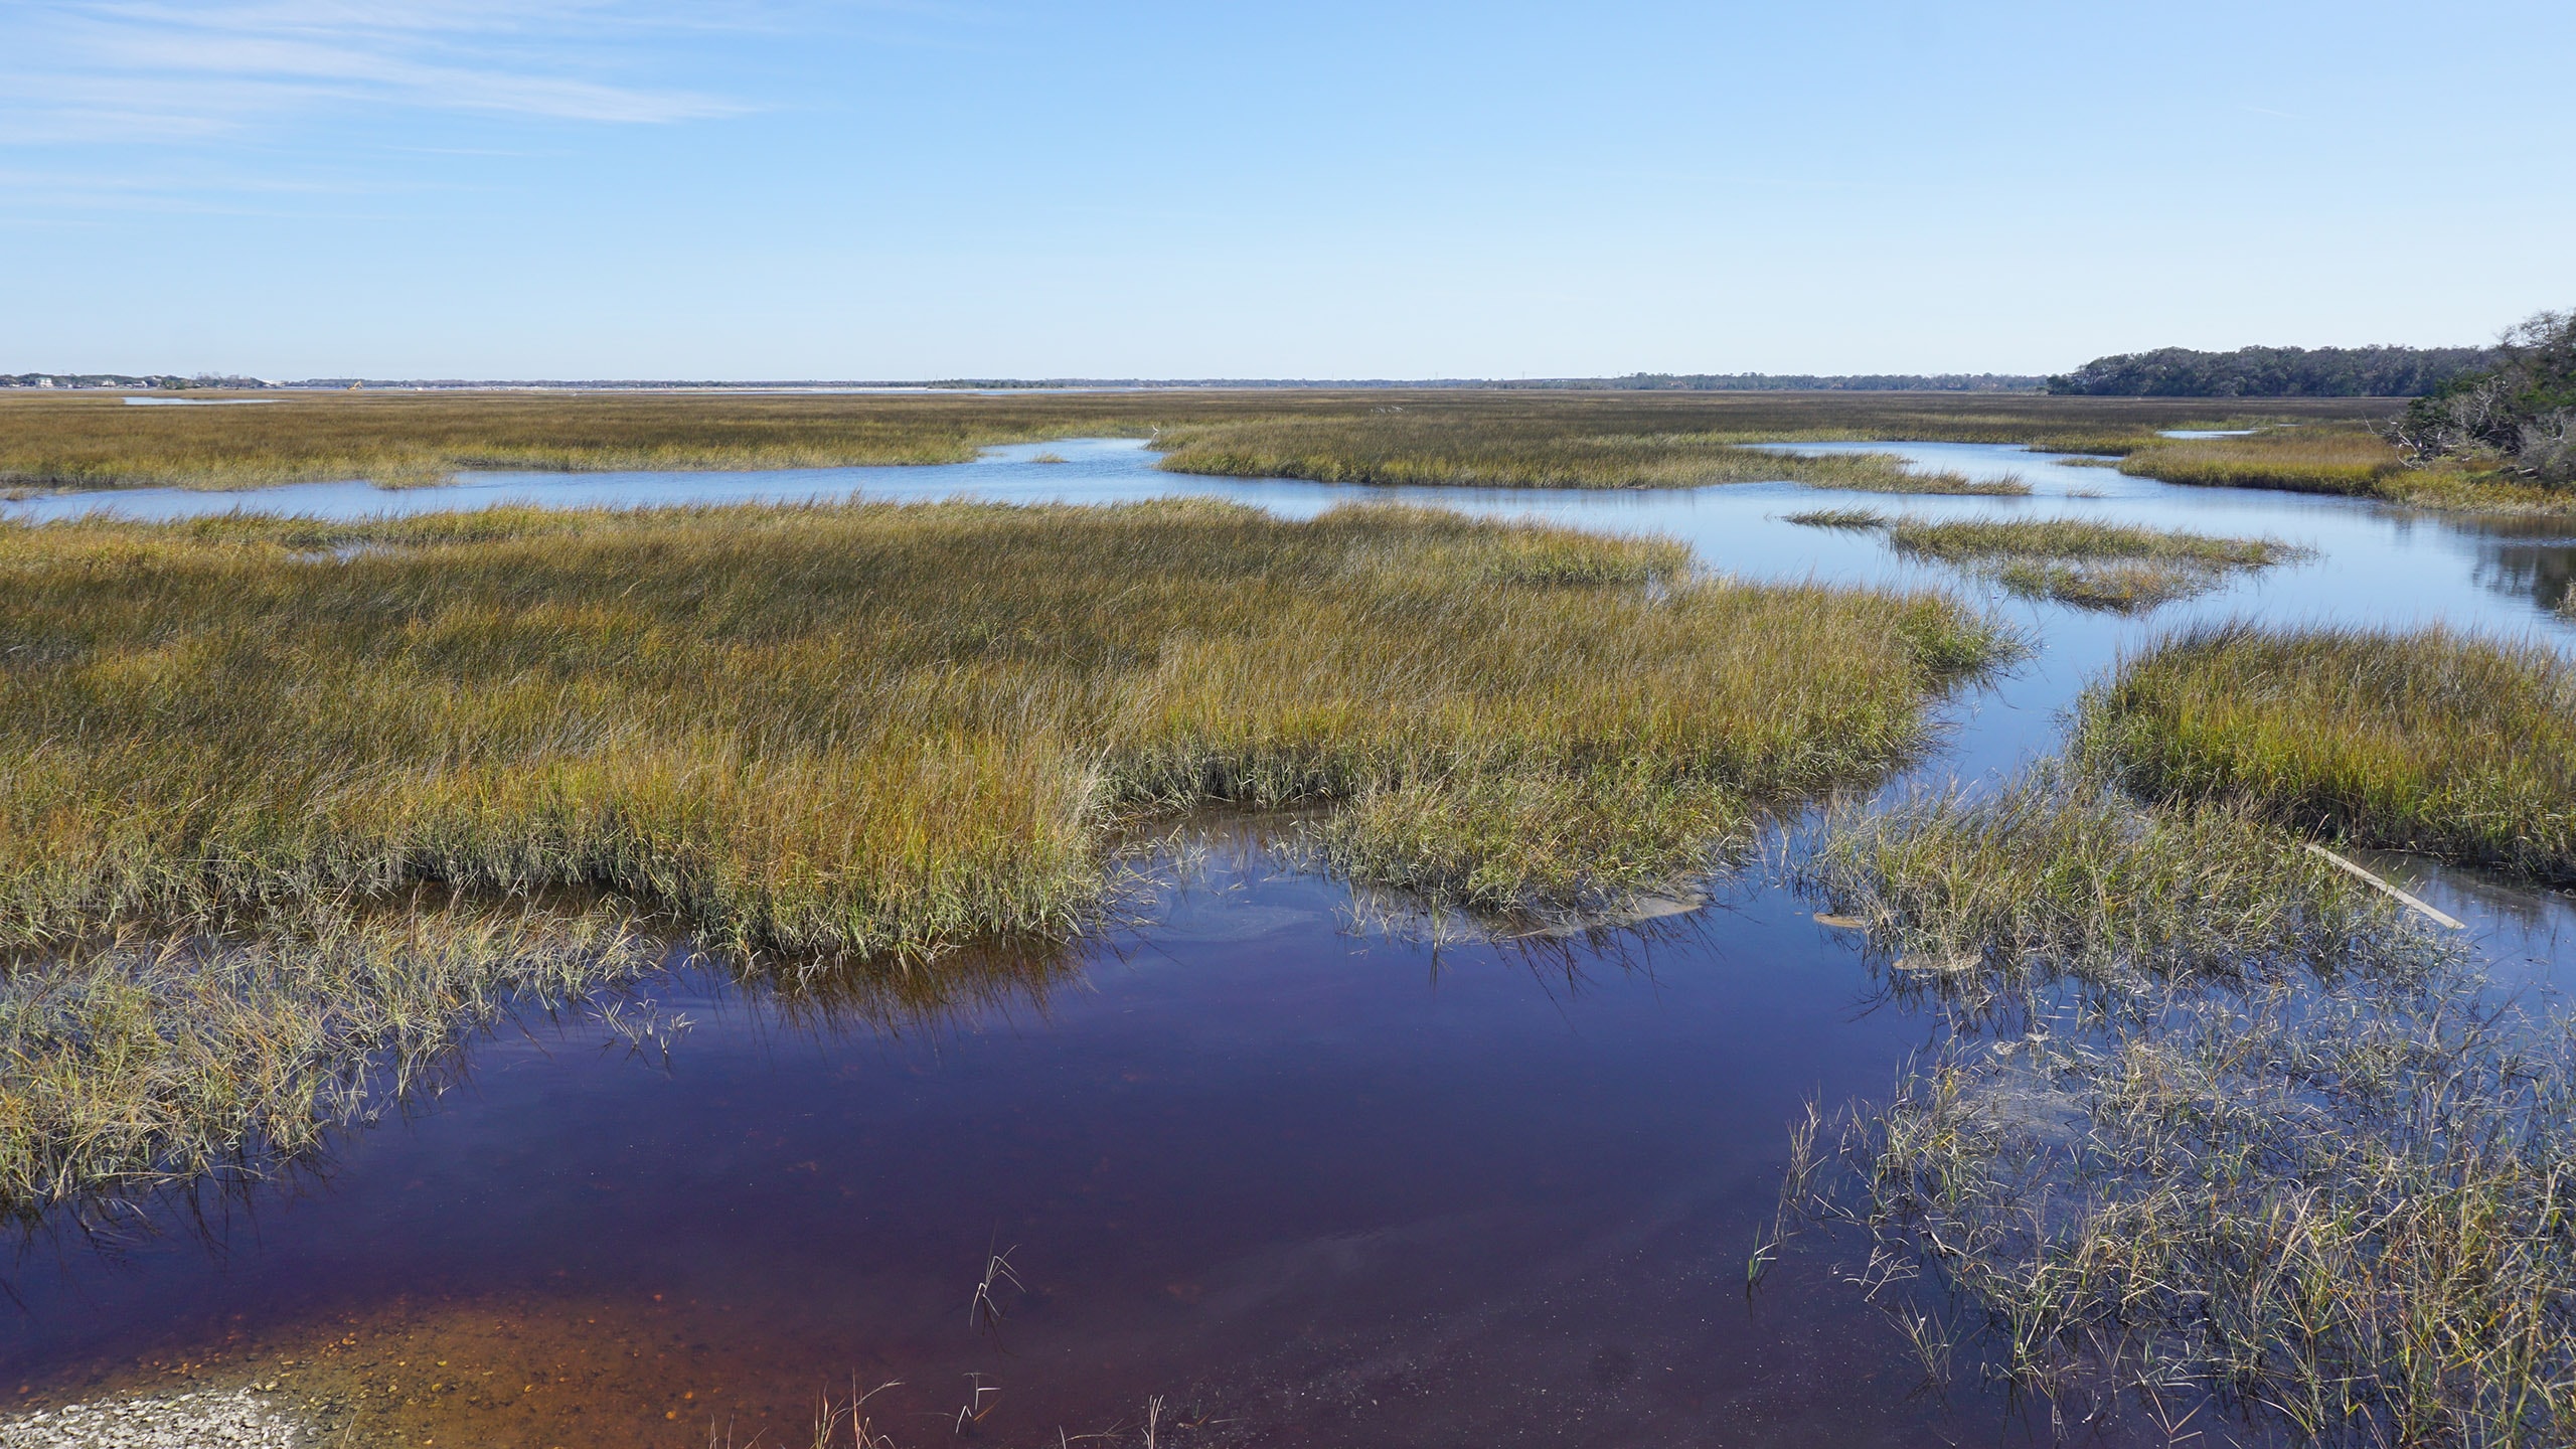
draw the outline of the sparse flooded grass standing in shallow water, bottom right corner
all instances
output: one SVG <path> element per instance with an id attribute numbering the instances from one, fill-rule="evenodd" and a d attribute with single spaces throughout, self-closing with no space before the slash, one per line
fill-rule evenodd
<path id="1" fill-rule="evenodd" d="M 2061 1403 L 2179 1390 L 2303 1441 L 2558 1441 L 2571 1062 L 2563 1024 L 2473 972 L 2151 990 L 1899 1083 L 1847 1127 L 1839 1209 Z"/>

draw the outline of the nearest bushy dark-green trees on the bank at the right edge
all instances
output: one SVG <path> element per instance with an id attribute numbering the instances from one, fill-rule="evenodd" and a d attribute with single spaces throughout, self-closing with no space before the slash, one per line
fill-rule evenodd
<path id="1" fill-rule="evenodd" d="M 2494 366 L 2416 397 L 2388 436 L 2416 462 L 2458 459 L 2576 487 L 2576 312 L 2540 312 L 2504 333 Z"/>

